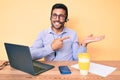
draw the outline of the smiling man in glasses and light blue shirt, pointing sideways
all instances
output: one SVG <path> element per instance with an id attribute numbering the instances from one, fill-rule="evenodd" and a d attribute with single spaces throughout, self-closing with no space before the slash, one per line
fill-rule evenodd
<path id="1" fill-rule="evenodd" d="M 30 47 L 33 59 L 45 58 L 46 61 L 77 60 L 78 53 L 86 52 L 88 43 L 100 41 L 104 36 L 86 37 L 79 45 L 75 31 L 66 28 L 68 10 L 64 4 L 55 4 L 51 10 L 51 27 L 42 31 Z"/>

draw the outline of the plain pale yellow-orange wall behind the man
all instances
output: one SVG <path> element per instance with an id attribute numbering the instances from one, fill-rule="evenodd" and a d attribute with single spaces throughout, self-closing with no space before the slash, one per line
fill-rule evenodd
<path id="1" fill-rule="evenodd" d="M 66 26 L 80 41 L 89 35 L 105 35 L 88 45 L 92 60 L 120 60 L 120 0 L 0 0 L 0 60 L 6 60 L 4 42 L 31 46 L 38 33 L 50 27 L 54 3 L 69 9 Z"/>

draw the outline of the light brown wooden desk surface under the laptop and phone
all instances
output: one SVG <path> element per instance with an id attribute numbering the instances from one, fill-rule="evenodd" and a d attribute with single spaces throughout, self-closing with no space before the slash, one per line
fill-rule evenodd
<path id="1" fill-rule="evenodd" d="M 0 61 L 2 64 L 3 61 Z M 0 70 L 0 80 L 120 80 L 120 61 L 92 61 L 99 64 L 104 64 L 117 69 L 107 77 L 101 77 L 95 74 L 89 73 L 87 76 L 81 76 L 79 70 L 76 70 L 71 65 L 76 64 L 76 61 L 66 61 L 66 62 L 44 62 L 47 64 L 54 65 L 55 68 L 39 74 L 37 76 L 32 76 L 28 73 L 16 70 L 10 66 L 6 66 L 3 70 Z M 58 70 L 58 66 L 68 65 L 72 74 L 61 75 Z"/>

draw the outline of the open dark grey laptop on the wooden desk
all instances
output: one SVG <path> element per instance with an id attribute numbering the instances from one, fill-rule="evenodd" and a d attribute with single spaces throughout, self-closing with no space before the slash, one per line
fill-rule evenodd
<path id="1" fill-rule="evenodd" d="M 28 46 L 4 43 L 10 66 L 20 71 L 38 75 L 54 68 L 53 65 L 32 60 Z"/>

